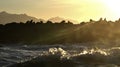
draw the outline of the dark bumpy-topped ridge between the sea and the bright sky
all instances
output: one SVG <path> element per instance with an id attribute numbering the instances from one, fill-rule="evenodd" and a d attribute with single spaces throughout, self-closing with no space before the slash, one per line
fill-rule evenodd
<path id="1" fill-rule="evenodd" d="M 120 20 L 115 22 L 100 18 L 98 21 L 73 24 L 70 21 L 12 22 L 0 24 L 0 43 L 66 44 L 120 41 Z"/>

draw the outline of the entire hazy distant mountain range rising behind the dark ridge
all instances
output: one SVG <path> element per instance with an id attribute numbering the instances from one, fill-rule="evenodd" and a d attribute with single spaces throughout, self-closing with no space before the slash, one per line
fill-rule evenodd
<path id="1" fill-rule="evenodd" d="M 31 19 L 34 20 L 35 22 L 39 22 L 39 21 L 46 22 L 46 20 L 44 20 L 44 19 L 41 19 L 41 18 L 38 19 L 36 17 L 32 17 L 27 14 L 11 14 L 6 11 L 0 12 L 0 24 L 6 24 L 6 23 L 10 23 L 10 22 L 18 22 L 18 23 L 26 22 L 27 20 L 31 20 Z M 57 23 L 61 22 L 62 20 L 78 23 L 76 20 L 64 19 L 61 17 L 52 17 L 48 20 L 52 21 L 52 22 L 57 22 Z"/>

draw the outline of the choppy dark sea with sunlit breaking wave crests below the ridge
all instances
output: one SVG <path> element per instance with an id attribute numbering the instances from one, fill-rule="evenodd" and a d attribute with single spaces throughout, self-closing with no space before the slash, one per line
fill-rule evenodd
<path id="1" fill-rule="evenodd" d="M 32 61 L 38 63 L 36 67 L 120 67 L 120 47 L 79 44 L 0 47 L 0 67 L 18 67 L 17 64 L 29 67 Z"/>

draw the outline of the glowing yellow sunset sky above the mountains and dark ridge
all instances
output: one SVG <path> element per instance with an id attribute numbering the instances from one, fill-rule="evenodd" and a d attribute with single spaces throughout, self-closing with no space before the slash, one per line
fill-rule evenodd
<path id="1" fill-rule="evenodd" d="M 77 21 L 89 19 L 117 20 L 120 18 L 119 0 L 0 0 L 0 11 L 49 19 L 63 17 Z"/>

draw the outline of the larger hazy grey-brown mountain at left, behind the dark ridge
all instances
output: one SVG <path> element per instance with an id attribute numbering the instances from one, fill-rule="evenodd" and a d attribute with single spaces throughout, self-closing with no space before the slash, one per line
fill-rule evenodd
<path id="1" fill-rule="evenodd" d="M 27 20 L 33 19 L 35 22 L 44 21 L 43 19 L 37 19 L 27 14 L 11 14 L 6 11 L 0 12 L 0 24 L 6 24 L 9 22 L 26 22 Z"/>

